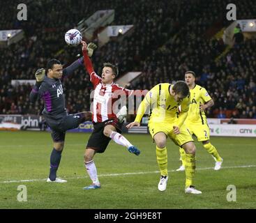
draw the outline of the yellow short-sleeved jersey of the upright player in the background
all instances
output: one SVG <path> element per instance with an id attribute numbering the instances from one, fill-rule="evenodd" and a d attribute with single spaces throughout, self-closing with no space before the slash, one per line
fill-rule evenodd
<path id="1" fill-rule="evenodd" d="M 205 104 L 211 100 L 211 96 L 202 86 L 195 84 L 193 89 L 190 89 L 190 107 L 186 123 L 202 123 L 206 124 L 206 115 L 200 112 L 200 105 Z"/>

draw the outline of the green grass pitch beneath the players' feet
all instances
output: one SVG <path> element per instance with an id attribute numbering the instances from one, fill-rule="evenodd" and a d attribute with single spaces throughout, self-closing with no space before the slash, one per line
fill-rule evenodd
<path id="1" fill-rule="evenodd" d="M 82 190 L 91 183 L 83 163 L 89 136 L 66 134 L 58 176 L 68 183 L 56 184 L 45 182 L 52 151 L 49 132 L 0 132 L 0 208 L 255 208 L 256 138 L 212 137 L 224 159 L 220 171 L 213 170 L 213 158 L 196 142 L 195 185 L 202 194 L 194 195 L 184 193 L 184 172 L 174 171 L 180 165 L 179 148 L 170 140 L 170 178 L 167 190 L 158 191 L 160 174 L 149 134 L 126 134 L 140 156 L 111 141 L 94 158 L 102 188 Z M 17 201 L 18 185 L 27 187 L 27 201 Z M 236 201 L 227 201 L 228 185 L 235 185 Z"/>

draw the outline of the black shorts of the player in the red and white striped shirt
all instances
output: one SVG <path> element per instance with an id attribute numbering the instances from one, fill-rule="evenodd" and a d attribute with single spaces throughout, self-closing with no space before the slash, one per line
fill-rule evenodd
<path id="1" fill-rule="evenodd" d="M 110 137 L 106 137 L 103 134 L 106 125 L 113 125 L 116 128 L 116 132 L 121 133 L 122 123 L 118 119 L 110 119 L 103 123 L 93 123 L 93 132 L 88 140 L 86 148 L 92 148 L 96 153 L 104 153 L 107 145 L 110 143 Z"/>

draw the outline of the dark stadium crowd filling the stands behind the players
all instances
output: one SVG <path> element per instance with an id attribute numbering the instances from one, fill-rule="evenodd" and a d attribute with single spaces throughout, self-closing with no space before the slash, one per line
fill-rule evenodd
<path id="1" fill-rule="evenodd" d="M 255 17 L 252 0 L 234 3 L 241 9 L 238 19 Z M 119 65 L 121 74 L 142 71 L 128 86 L 130 89 L 151 89 L 160 82 L 183 79 L 186 70 L 194 70 L 197 83 L 204 86 L 215 101 L 207 110 L 208 117 L 256 118 L 255 40 L 234 45 L 227 55 L 216 61 L 225 45 L 221 40 L 211 39 L 211 31 L 213 27 L 221 29 L 229 24 L 225 19 L 227 3 L 220 0 L 195 0 L 190 4 L 186 0 L 136 1 L 133 5 L 128 0 L 86 3 L 66 0 L 63 4 L 36 1 L 28 3 L 31 20 L 27 22 L 17 22 L 16 8 L 4 7 L 10 13 L 1 10 L 1 14 L 8 15 L 5 22 L 0 21 L 1 29 L 24 29 L 25 38 L 0 48 L 0 114 L 39 114 L 42 102 L 33 107 L 29 103 L 31 86 L 12 86 L 11 80 L 34 79 L 36 69 L 45 67 L 53 57 L 65 66 L 70 64 L 81 49 L 66 46 L 64 33 L 84 15 L 111 9 L 113 5 L 113 24 L 135 24 L 135 28 L 121 42 L 114 38 L 96 50 L 93 64 L 98 74 L 103 62 L 111 61 Z M 83 67 L 63 80 L 63 90 L 68 112 L 89 110 L 91 83 Z"/>

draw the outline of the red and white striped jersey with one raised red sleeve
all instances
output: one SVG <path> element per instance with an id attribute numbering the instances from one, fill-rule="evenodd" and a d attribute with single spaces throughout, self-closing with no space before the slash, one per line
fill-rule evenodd
<path id="1" fill-rule="evenodd" d="M 113 112 L 113 105 L 116 100 L 119 100 L 120 96 L 130 96 L 133 94 L 133 90 L 128 90 L 120 87 L 118 84 L 109 84 L 103 86 L 102 79 L 93 70 L 93 66 L 86 51 L 84 54 L 84 66 L 90 75 L 90 81 L 93 84 L 93 116 L 92 121 L 100 123 L 107 121 L 108 119 L 116 118 L 116 114 Z"/>

